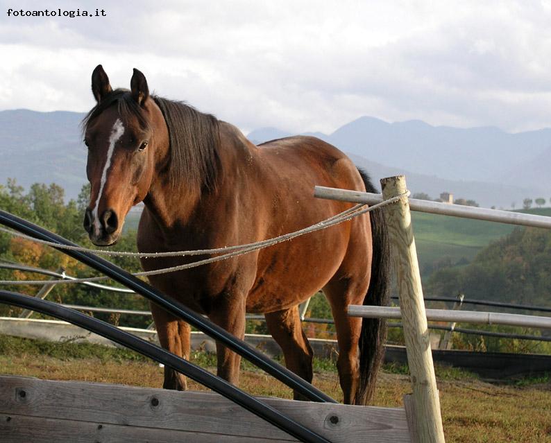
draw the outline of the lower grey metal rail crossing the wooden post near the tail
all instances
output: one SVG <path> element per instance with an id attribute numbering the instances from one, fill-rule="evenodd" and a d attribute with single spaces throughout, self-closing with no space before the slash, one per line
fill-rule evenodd
<path id="1" fill-rule="evenodd" d="M 537 315 L 505 314 L 478 311 L 447 311 L 427 309 L 427 320 L 436 322 L 465 322 L 482 324 L 507 324 L 531 328 L 551 329 L 551 318 Z M 350 304 L 348 315 L 362 318 L 402 318 L 400 308 L 389 306 L 358 306 Z"/>

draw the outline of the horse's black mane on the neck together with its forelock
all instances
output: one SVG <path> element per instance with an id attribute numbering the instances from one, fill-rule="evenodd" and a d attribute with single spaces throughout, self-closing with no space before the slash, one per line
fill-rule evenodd
<path id="1" fill-rule="evenodd" d="M 212 190 L 216 186 L 219 158 L 219 121 L 181 101 L 151 96 L 164 116 L 169 130 L 170 160 L 168 180 L 173 186 L 185 183 L 189 191 Z M 81 125 L 87 125 L 108 107 L 117 105 L 121 119 L 135 117 L 144 129 L 151 128 L 143 108 L 128 89 L 115 89 L 88 112 Z"/>

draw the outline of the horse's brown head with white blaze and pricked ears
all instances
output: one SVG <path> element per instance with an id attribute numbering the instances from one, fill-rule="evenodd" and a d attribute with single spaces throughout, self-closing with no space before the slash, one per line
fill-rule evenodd
<path id="1" fill-rule="evenodd" d="M 155 168 L 166 161 L 169 136 L 137 69 L 130 91 L 113 91 L 100 64 L 92 73 L 92 93 L 97 104 L 83 123 L 91 184 L 84 229 L 92 243 L 105 246 L 117 241 L 126 214 L 146 197 Z"/>

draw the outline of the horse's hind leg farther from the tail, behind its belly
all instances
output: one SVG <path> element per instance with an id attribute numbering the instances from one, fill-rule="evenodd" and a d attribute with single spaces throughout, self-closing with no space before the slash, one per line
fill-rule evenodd
<path id="1" fill-rule="evenodd" d="M 285 365 L 298 376 L 312 383 L 312 358 L 314 351 L 300 324 L 298 306 L 282 311 L 266 313 L 266 324 L 274 340 L 285 356 Z M 305 397 L 294 392 L 295 400 Z"/>

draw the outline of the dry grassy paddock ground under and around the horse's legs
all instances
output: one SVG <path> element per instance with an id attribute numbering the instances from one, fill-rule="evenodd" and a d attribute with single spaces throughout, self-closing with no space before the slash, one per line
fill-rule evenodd
<path id="1" fill-rule="evenodd" d="M 196 352 L 195 363 L 214 372 L 214 356 Z M 334 365 L 316 361 L 314 384 L 335 399 L 341 392 Z M 121 383 L 158 388 L 162 369 L 132 351 L 99 345 L 50 343 L 0 336 L 0 374 L 51 380 Z M 495 385 L 473 374 L 436 367 L 446 442 L 551 442 L 551 374 Z M 204 390 L 191 382 L 192 390 Z M 251 394 L 291 398 L 285 385 L 244 364 L 241 388 Z M 400 407 L 410 392 L 407 368 L 385 367 L 376 406 Z"/>

